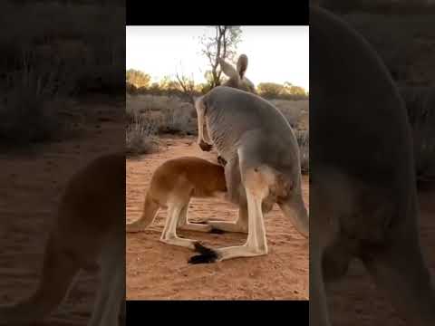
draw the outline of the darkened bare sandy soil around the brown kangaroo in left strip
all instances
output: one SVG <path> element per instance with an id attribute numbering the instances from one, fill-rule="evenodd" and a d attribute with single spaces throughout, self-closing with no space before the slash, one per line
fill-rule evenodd
<path id="1" fill-rule="evenodd" d="M 0 154 L 0 305 L 34 292 L 66 181 L 93 158 L 123 149 L 125 125 L 114 122 L 124 114 L 122 102 L 111 106 L 97 100 L 76 108 L 85 113 L 85 125 L 73 139 Z M 67 300 L 44 323 L 35 325 L 86 325 L 96 276 L 81 273 Z"/>

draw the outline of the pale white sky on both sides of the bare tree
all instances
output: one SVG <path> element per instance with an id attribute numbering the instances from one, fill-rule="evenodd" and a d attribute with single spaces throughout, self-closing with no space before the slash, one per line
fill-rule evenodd
<path id="1" fill-rule="evenodd" d="M 237 57 L 248 57 L 247 78 L 260 82 L 291 82 L 309 91 L 308 26 L 242 26 Z M 214 34 L 206 26 L 126 26 L 126 69 L 149 73 L 157 82 L 184 73 L 205 82 L 208 59 L 199 37 Z"/>

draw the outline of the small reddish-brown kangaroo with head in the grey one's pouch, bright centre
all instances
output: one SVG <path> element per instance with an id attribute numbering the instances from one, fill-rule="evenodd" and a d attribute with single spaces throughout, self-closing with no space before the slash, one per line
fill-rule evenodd
<path id="1" fill-rule="evenodd" d="M 224 168 L 206 159 L 183 157 L 169 159 L 156 169 L 151 177 L 140 219 L 126 226 L 127 232 L 140 232 L 147 228 L 160 208 L 168 209 L 168 220 L 160 241 L 195 249 L 198 242 L 180 238 L 183 230 L 218 233 L 218 231 L 247 233 L 247 206 L 239 207 L 236 223 L 208 221 L 207 225 L 189 223 L 188 208 L 191 198 L 225 198 L 227 185 Z M 265 211 L 272 207 L 264 206 Z"/>

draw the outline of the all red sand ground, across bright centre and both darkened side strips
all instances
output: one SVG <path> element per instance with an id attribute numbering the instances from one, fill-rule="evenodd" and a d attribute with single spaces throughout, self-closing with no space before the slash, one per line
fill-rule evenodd
<path id="1" fill-rule="evenodd" d="M 101 109 L 102 116 L 106 109 Z M 122 106 L 114 109 L 123 112 Z M 43 244 L 65 182 L 78 166 L 113 150 L 112 144 L 119 141 L 120 133 L 123 131 L 110 120 L 96 119 L 80 139 L 43 145 L 31 153 L 0 154 L 0 305 L 15 302 L 34 290 L 40 275 Z M 163 147 L 159 153 L 139 161 L 128 160 L 129 220 L 140 216 L 150 173 L 165 159 L 179 154 L 215 159 L 213 154 L 198 151 L 195 144 L 189 145 L 193 140 L 166 139 L 169 149 Z M 174 148 L 179 151 L 174 152 Z M 306 195 L 307 190 L 305 184 Z M 421 243 L 431 273 L 435 275 L 435 193 L 420 194 L 420 202 Z M 236 209 L 225 203 L 198 200 L 192 206 L 193 219 L 229 219 L 236 215 Z M 165 212 L 161 212 L 143 235 L 127 237 L 129 299 L 308 297 L 307 242 L 295 233 L 293 225 L 285 221 L 279 211 L 266 217 L 270 250 L 266 257 L 196 266 L 186 264 L 189 250 L 158 241 L 164 217 Z M 183 235 L 210 245 L 241 244 L 245 240 L 243 235 L 237 234 L 186 232 Z M 95 276 L 95 273 L 82 273 L 68 300 L 39 325 L 86 325 L 97 284 Z M 218 292 L 213 294 L 213 289 Z M 390 303 L 376 291 L 361 264 L 353 264 L 349 275 L 329 289 L 334 326 L 405 325 Z"/>

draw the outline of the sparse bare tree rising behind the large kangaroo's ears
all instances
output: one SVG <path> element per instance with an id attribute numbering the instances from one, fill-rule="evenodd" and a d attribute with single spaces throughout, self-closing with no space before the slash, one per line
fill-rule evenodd
<path id="1" fill-rule="evenodd" d="M 237 44 L 241 40 L 242 30 L 239 26 L 213 26 L 215 34 L 213 36 L 202 36 L 200 43 L 203 45 L 203 53 L 210 63 L 210 71 L 206 72 L 210 88 L 220 85 L 221 70 L 218 58 L 227 59 L 234 62 Z"/>

